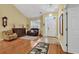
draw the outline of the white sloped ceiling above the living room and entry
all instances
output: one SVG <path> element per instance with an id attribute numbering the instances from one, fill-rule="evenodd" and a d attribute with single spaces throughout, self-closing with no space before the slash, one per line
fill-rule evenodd
<path id="1" fill-rule="evenodd" d="M 15 4 L 14 6 L 27 17 L 38 17 L 47 12 L 58 11 L 57 4 Z"/>

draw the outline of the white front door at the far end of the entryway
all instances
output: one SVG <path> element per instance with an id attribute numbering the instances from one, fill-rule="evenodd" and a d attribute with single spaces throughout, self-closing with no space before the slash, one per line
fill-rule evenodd
<path id="1" fill-rule="evenodd" d="M 54 16 L 45 17 L 45 36 L 56 36 L 56 18 Z"/>

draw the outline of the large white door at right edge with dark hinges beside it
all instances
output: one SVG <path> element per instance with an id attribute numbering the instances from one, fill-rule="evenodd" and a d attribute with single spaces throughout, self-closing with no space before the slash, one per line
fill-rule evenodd
<path id="1" fill-rule="evenodd" d="M 68 9 L 68 52 L 79 53 L 79 7 Z"/>

